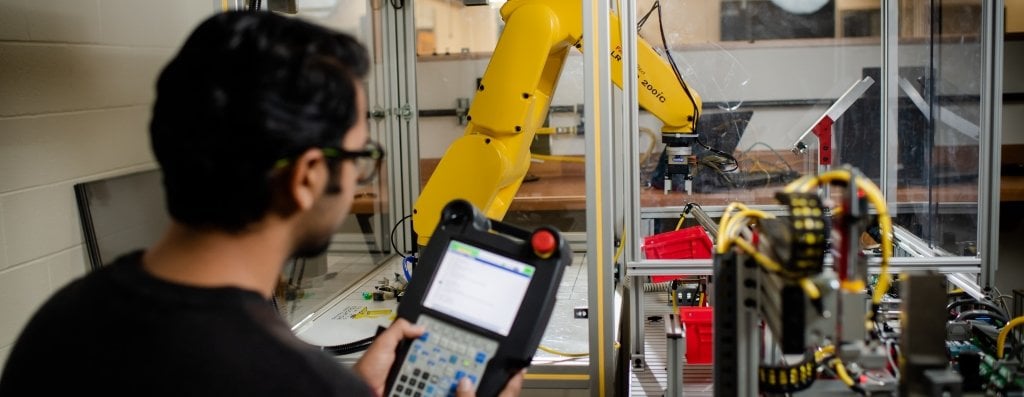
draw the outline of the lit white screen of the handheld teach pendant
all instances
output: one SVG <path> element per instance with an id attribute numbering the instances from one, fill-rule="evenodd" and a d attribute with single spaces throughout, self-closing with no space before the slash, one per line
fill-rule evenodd
<path id="1" fill-rule="evenodd" d="M 423 306 L 508 336 L 534 266 L 452 240 Z"/>

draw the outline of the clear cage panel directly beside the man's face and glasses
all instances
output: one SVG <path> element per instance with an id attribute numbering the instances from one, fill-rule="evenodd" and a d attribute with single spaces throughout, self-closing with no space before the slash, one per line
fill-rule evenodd
<path id="1" fill-rule="evenodd" d="M 297 16 L 353 35 L 370 48 L 373 62 L 365 86 L 369 107 L 373 109 L 383 95 L 379 68 L 381 41 L 379 16 L 360 0 L 297 0 Z M 370 139 L 385 141 L 381 124 L 371 121 Z M 360 186 L 355 194 L 352 214 L 334 235 L 327 254 L 308 260 L 296 260 L 285 266 L 278 293 L 278 307 L 295 324 L 319 309 L 356 281 L 377 268 L 390 253 L 387 232 L 392 223 L 387 214 L 388 170 L 381 169 L 374 182 Z"/>

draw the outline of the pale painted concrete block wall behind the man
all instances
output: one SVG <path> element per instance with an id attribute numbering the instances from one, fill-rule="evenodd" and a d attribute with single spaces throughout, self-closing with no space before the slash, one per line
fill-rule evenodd
<path id="1" fill-rule="evenodd" d="M 86 271 L 73 186 L 156 167 L 157 75 L 219 3 L 0 0 L 0 367 Z"/>

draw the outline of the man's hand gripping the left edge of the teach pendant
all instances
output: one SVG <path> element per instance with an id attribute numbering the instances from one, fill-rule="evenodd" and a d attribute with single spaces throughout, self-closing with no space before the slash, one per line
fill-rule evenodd
<path id="1" fill-rule="evenodd" d="M 370 345 L 362 357 L 355 362 L 353 366 L 355 373 L 370 385 L 370 389 L 376 395 L 383 396 L 384 384 L 387 383 L 387 373 L 394 363 L 398 343 L 406 339 L 419 338 L 424 330 L 422 325 L 413 325 L 404 318 L 398 318 L 377 336 L 373 345 Z"/>

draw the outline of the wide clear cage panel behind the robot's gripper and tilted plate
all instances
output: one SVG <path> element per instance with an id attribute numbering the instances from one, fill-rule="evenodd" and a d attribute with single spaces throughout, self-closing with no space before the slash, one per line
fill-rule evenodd
<path id="1" fill-rule="evenodd" d="M 643 2 L 638 7 L 644 15 Z M 823 147 L 810 129 L 864 76 L 873 76 L 876 83 L 836 120 L 830 167 L 849 164 L 877 178 L 878 0 L 662 2 L 660 13 L 662 26 L 655 11 L 641 34 L 663 47 L 659 28 L 665 30 L 683 78 L 703 106 L 693 149 L 693 193 L 677 187 L 666 194 L 655 171 L 644 178 L 645 210 L 656 213 L 658 207 L 690 202 L 706 208 L 777 204 L 774 193 L 786 182 L 824 169 L 819 166 Z M 641 124 L 658 135 L 660 125 L 649 114 L 641 113 Z M 668 220 L 653 231 L 675 226 L 675 219 Z"/>

